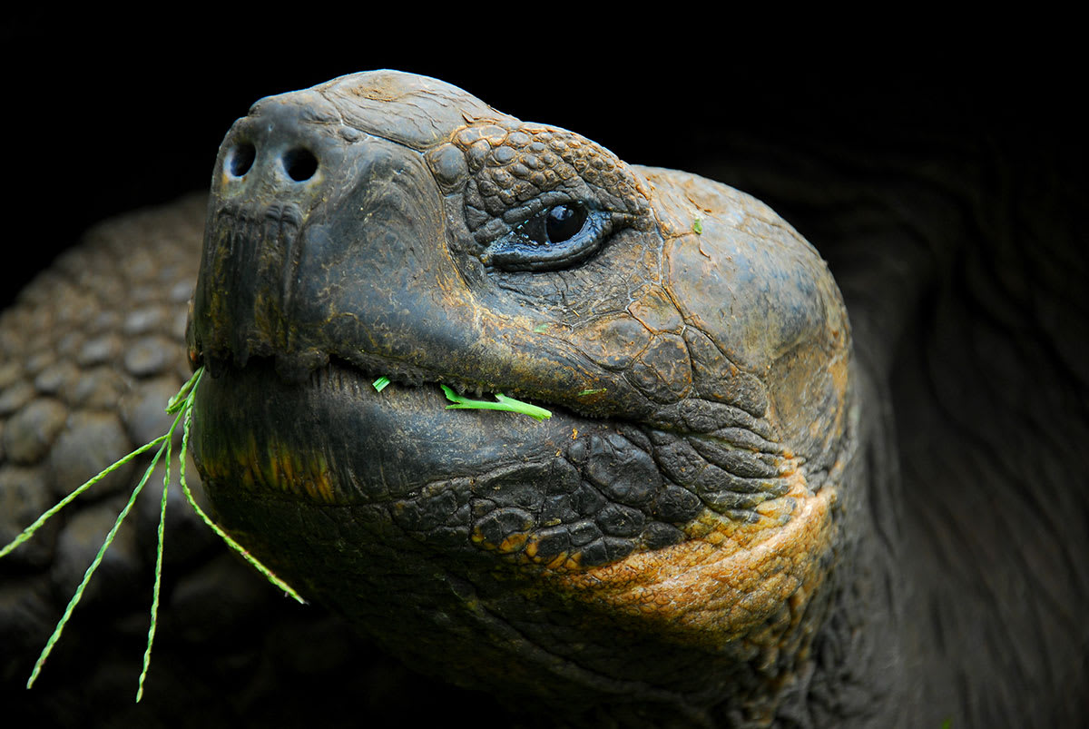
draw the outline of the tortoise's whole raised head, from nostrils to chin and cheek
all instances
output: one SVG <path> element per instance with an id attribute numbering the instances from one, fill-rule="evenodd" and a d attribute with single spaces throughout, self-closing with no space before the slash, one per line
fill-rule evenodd
<path id="1" fill-rule="evenodd" d="M 420 668 L 767 710 L 822 619 L 848 325 L 743 193 L 344 76 L 227 135 L 189 342 L 224 525 Z M 446 411 L 440 384 L 552 417 Z"/>

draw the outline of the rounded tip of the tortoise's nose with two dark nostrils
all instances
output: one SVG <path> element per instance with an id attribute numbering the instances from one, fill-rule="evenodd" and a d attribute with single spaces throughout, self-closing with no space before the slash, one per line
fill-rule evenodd
<path id="1" fill-rule="evenodd" d="M 319 187 L 351 142 L 339 116 L 317 94 L 261 99 L 220 146 L 215 192 L 224 197 L 303 202 Z"/>

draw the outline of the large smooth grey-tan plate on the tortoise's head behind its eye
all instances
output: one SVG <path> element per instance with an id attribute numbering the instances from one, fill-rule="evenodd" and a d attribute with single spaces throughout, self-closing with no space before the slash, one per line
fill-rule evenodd
<path id="1" fill-rule="evenodd" d="M 846 309 L 827 265 L 756 198 L 692 174 L 645 172 L 669 183 L 656 193 L 672 232 L 669 291 L 686 323 L 760 380 L 782 442 L 827 467 L 845 428 L 851 362 Z M 692 230 L 695 216 L 702 233 Z M 737 402 L 712 385 L 700 396 Z"/>

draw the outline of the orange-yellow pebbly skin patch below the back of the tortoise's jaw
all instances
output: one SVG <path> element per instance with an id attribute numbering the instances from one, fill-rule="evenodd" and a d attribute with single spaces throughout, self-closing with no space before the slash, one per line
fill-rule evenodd
<path id="1" fill-rule="evenodd" d="M 799 619 L 823 581 L 820 560 L 832 543 L 834 486 L 812 494 L 800 471 L 790 481 L 790 493 L 761 505 L 751 524 L 705 514 L 682 544 L 547 579 L 574 599 L 652 623 L 677 642 L 763 644 L 759 634 L 784 606 L 791 623 Z"/>

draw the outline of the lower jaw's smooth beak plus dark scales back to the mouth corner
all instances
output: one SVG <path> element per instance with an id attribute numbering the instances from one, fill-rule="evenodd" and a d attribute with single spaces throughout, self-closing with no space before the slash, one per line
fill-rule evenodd
<path id="1" fill-rule="evenodd" d="M 194 458 L 213 501 L 360 507 L 416 543 L 562 570 L 793 510 L 782 452 L 556 406 L 543 422 L 448 411 L 433 382 L 378 392 L 371 373 L 335 360 L 302 382 L 276 368 L 256 357 L 201 379 Z"/>

